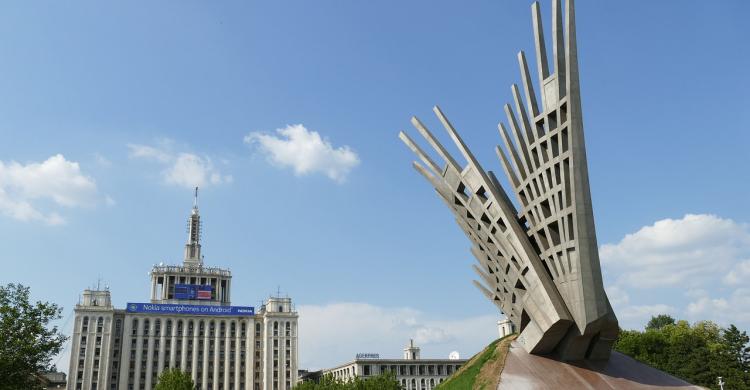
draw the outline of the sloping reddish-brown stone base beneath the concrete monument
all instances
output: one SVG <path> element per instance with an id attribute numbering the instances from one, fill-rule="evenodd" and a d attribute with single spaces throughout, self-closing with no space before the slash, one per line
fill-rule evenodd
<path id="1" fill-rule="evenodd" d="M 513 341 L 498 389 L 703 389 L 612 351 L 607 361 L 567 361 L 527 353 Z"/>

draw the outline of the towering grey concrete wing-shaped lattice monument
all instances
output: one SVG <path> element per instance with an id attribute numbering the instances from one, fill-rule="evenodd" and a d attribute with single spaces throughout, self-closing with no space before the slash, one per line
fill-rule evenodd
<path id="1" fill-rule="evenodd" d="M 608 359 L 618 325 L 602 284 L 594 230 L 573 0 L 566 0 L 564 20 L 560 0 L 552 0 L 553 72 L 539 4 L 531 9 L 540 94 L 525 54 L 518 53 L 523 92 L 511 87 L 513 106 L 504 107 L 510 131 L 500 123 L 504 148 L 496 147 L 520 210 L 438 107 L 435 114 L 466 165 L 417 118 L 412 124 L 444 164 L 438 165 L 405 133 L 399 136 L 424 164 L 414 162 L 416 170 L 472 241 L 479 263 L 474 269 L 481 279 L 474 284 L 520 330 L 518 342 L 524 349 L 565 360 Z"/>

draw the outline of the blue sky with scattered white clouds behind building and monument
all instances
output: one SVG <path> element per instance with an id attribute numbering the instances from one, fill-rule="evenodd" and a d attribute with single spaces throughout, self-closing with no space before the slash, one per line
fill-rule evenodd
<path id="1" fill-rule="evenodd" d="M 750 4 L 576 5 L 621 324 L 668 311 L 750 329 Z M 181 261 L 196 182 L 206 262 L 232 269 L 235 304 L 278 286 L 295 299 L 303 367 L 398 356 L 409 337 L 426 356 L 476 352 L 499 315 L 397 133 L 417 115 L 447 141 L 438 104 L 500 170 L 517 51 L 533 61 L 529 6 L 0 5 L 0 283 L 65 315 L 98 278 L 120 307 L 147 299 L 150 267 Z M 279 154 L 289 142 L 302 149 Z"/>

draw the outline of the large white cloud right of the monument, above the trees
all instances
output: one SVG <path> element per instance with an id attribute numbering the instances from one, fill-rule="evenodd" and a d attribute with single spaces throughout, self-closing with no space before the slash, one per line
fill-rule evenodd
<path id="1" fill-rule="evenodd" d="M 731 219 L 688 214 L 645 226 L 617 244 L 602 245 L 599 254 L 602 263 L 619 275 L 618 283 L 626 286 L 700 286 L 750 254 L 750 231 Z"/>

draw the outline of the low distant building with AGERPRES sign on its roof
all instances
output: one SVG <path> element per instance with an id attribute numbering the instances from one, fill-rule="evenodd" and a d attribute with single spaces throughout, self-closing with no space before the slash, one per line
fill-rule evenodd
<path id="1" fill-rule="evenodd" d="M 349 363 L 323 370 L 323 375 L 351 380 L 367 378 L 386 372 L 396 374 L 405 390 L 432 390 L 466 363 L 466 359 L 422 359 L 419 347 L 410 340 L 404 348 L 403 359 L 381 359 L 376 354 L 359 354 Z"/>

